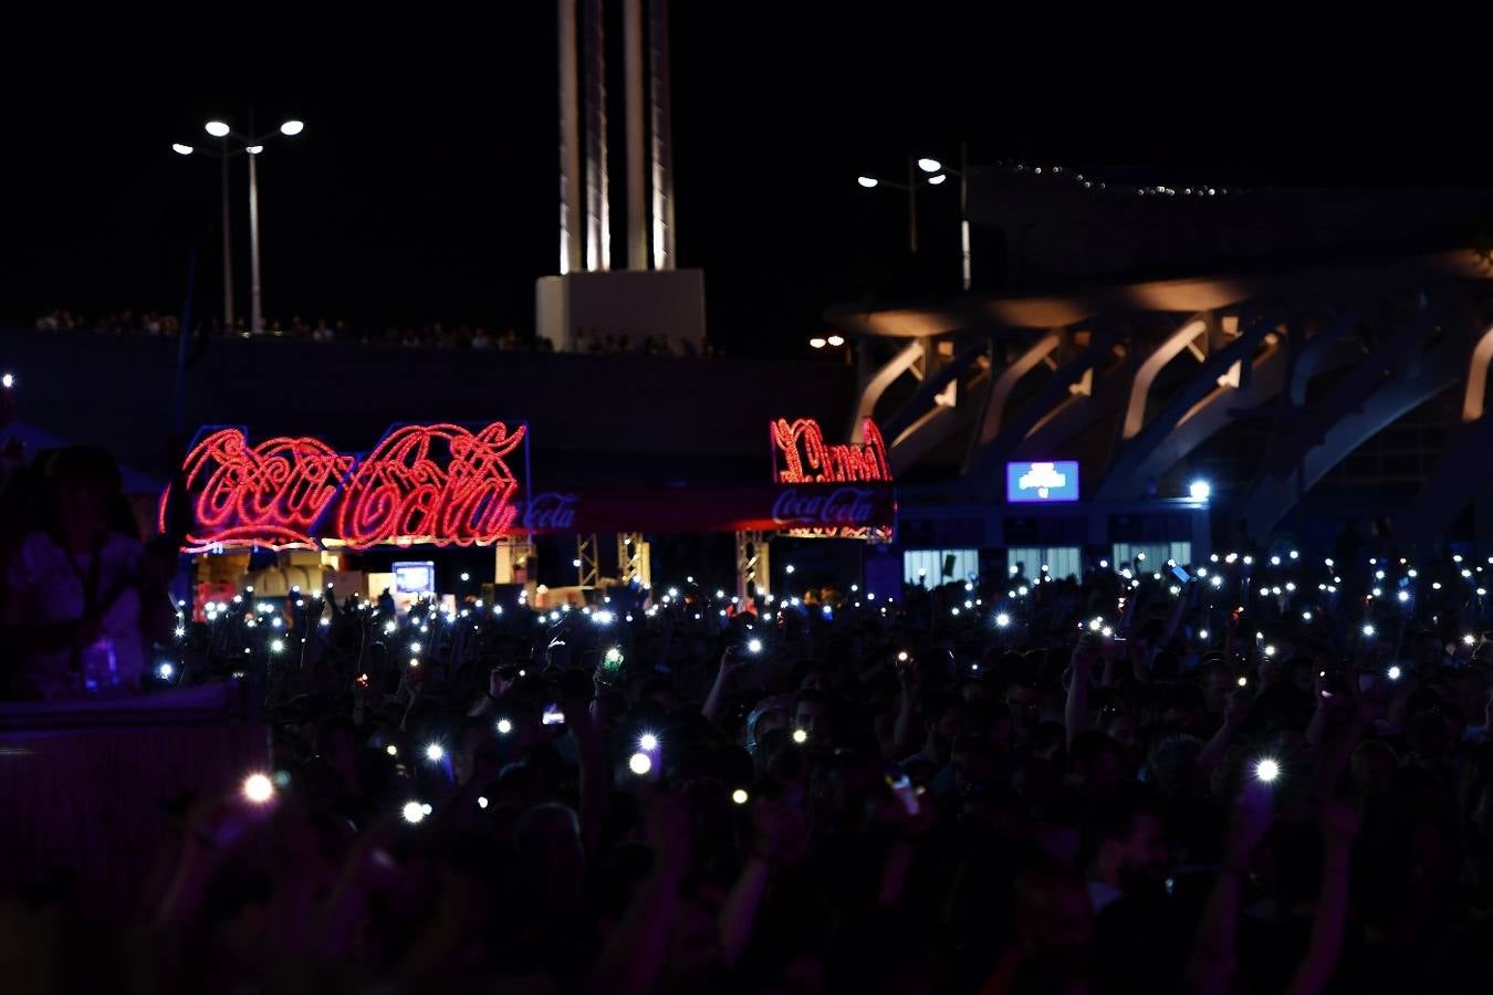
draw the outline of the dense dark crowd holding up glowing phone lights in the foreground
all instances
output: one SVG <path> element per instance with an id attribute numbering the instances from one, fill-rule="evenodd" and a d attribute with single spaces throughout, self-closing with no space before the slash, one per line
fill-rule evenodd
<path id="1" fill-rule="evenodd" d="M 0 964 L 25 968 L 7 977 L 1486 983 L 1493 556 L 1275 547 L 748 600 L 687 580 L 546 609 L 469 592 L 406 613 L 242 589 L 163 619 L 160 561 L 109 518 L 106 468 L 75 453 L 43 483 L 51 510 L 6 571 L 12 692 L 87 694 L 88 649 L 133 622 L 169 662 L 124 683 L 243 682 L 273 756 L 200 785 L 136 914 L 81 928 L 66 889 L 0 898 Z M 110 616 L 96 588 L 133 594 Z M 63 607 L 25 622 L 46 598 Z"/>

